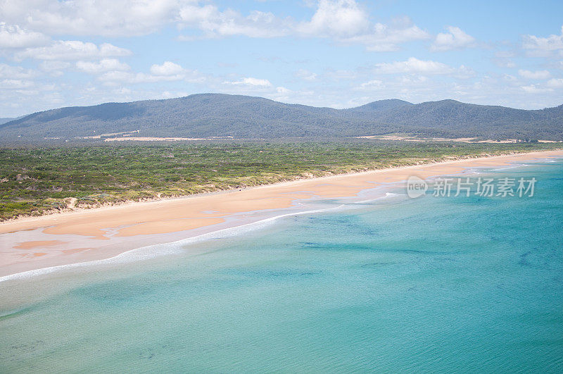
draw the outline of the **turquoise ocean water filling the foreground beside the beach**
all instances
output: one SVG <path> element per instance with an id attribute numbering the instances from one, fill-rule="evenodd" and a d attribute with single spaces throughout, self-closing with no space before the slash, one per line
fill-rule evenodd
<path id="1" fill-rule="evenodd" d="M 0 283 L 0 372 L 563 371 L 563 162 Z M 395 191 L 397 192 L 397 191 Z M 344 205 L 342 205 L 344 204 Z"/>

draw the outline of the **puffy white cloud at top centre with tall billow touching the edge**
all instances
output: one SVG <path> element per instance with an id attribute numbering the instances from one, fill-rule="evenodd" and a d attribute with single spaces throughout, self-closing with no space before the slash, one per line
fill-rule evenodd
<path id="1" fill-rule="evenodd" d="M 345 44 L 364 44 L 370 51 L 396 51 L 398 44 L 428 39 L 410 18 L 398 18 L 390 25 L 372 24 L 369 14 L 354 0 L 320 0 L 310 20 L 297 22 L 272 13 L 219 11 L 217 6 L 191 4 L 180 11 L 182 27 L 201 30 L 203 37 L 245 35 L 247 37 L 320 37 Z M 180 39 L 191 40 L 194 36 Z"/>

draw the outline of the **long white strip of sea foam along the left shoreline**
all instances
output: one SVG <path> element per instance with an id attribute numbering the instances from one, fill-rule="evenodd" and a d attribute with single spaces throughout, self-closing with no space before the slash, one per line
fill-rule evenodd
<path id="1" fill-rule="evenodd" d="M 250 232 L 253 230 L 259 230 L 262 227 L 266 227 L 274 223 L 275 220 L 279 218 L 289 217 L 289 216 L 301 216 L 303 214 L 313 214 L 313 213 L 322 213 L 325 211 L 334 211 L 336 209 L 342 208 L 345 204 L 341 204 L 340 206 L 334 206 L 332 208 L 324 208 L 324 209 L 315 209 L 311 211 L 300 211 L 300 212 L 292 212 L 292 213 L 285 213 L 279 216 L 274 216 L 270 218 L 265 218 L 263 220 L 258 220 L 252 223 L 246 223 L 239 226 L 227 227 L 222 230 L 217 230 L 213 232 L 208 232 L 205 234 L 197 235 L 195 237 L 189 237 L 186 239 L 180 239 L 176 242 L 164 243 L 164 244 L 153 244 L 147 247 L 141 247 L 137 249 L 131 249 L 130 251 L 125 251 L 117 256 L 113 256 L 110 258 L 104 258 L 103 260 L 95 260 L 95 261 L 86 261 L 80 263 L 69 263 L 66 265 L 59 265 L 59 266 L 51 266 L 49 268 L 42 268 L 36 270 L 28 270 L 22 273 L 15 273 L 11 275 L 5 275 L 4 277 L 0 277 L 0 282 L 5 282 L 6 280 L 19 280 L 25 278 L 32 278 L 38 275 L 45 275 L 49 273 L 54 273 L 60 270 L 68 270 L 72 268 L 82 268 L 86 266 L 96 266 L 96 265 L 106 265 L 106 264 L 114 264 L 114 263 L 129 263 L 132 261 L 139 261 L 139 260 L 147 260 L 150 258 L 155 258 L 157 256 L 164 256 L 166 254 L 175 254 L 181 253 L 184 251 L 184 246 L 186 244 L 193 244 L 196 242 L 203 242 L 205 240 L 213 240 L 213 239 L 224 239 L 227 237 L 234 237 L 237 235 L 244 234 L 246 232 Z"/>

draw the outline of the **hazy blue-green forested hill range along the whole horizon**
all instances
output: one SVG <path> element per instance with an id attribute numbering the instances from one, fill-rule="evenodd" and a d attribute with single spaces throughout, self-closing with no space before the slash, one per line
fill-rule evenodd
<path id="1" fill-rule="evenodd" d="M 195 94 L 178 99 L 74 106 L 0 125 L 0 140 L 72 139 L 137 131 L 139 137 L 349 137 L 402 132 L 434 137 L 563 139 L 563 106 L 536 111 L 459 101 L 392 99 L 349 109 L 284 104 L 253 96 Z"/>

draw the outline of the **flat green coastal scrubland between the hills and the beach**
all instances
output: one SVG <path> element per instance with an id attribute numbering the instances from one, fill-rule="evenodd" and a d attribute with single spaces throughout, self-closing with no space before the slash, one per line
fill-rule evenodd
<path id="1" fill-rule="evenodd" d="M 214 142 L 0 149 L 0 219 L 557 144 Z"/>

